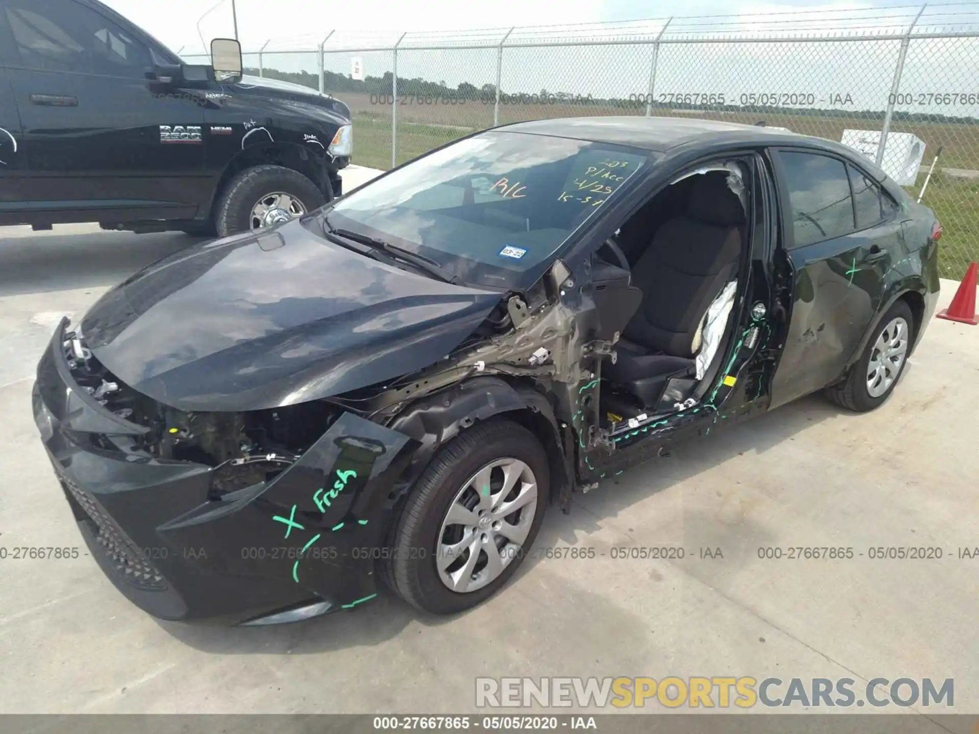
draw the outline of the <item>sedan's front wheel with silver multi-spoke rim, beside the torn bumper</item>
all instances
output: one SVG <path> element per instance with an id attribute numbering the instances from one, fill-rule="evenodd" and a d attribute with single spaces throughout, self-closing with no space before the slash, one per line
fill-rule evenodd
<path id="1" fill-rule="evenodd" d="M 394 522 L 382 576 L 412 606 L 475 607 L 516 572 L 547 507 L 547 455 L 536 436 L 493 420 L 439 451 Z"/>

